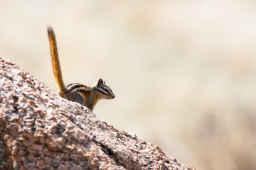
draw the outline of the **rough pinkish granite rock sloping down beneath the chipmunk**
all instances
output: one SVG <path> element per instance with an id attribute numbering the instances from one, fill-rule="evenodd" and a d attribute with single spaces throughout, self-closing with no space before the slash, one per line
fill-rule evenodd
<path id="1" fill-rule="evenodd" d="M 193 169 L 0 58 L 0 169 Z"/>

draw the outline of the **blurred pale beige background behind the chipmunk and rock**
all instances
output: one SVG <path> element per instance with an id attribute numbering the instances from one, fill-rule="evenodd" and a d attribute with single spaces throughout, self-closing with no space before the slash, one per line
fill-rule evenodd
<path id="1" fill-rule="evenodd" d="M 256 169 L 256 1 L 3 1 L 0 57 L 57 89 L 105 79 L 94 113 L 196 169 Z"/>

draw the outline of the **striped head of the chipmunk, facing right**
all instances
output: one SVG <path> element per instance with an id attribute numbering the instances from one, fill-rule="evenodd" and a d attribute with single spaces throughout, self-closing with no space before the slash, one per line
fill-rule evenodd
<path id="1" fill-rule="evenodd" d="M 97 84 L 93 87 L 97 94 L 100 96 L 100 99 L 113 99 L 114 94 L 109 86 L 105 84 L 105 81 L 99 79 Z"/>

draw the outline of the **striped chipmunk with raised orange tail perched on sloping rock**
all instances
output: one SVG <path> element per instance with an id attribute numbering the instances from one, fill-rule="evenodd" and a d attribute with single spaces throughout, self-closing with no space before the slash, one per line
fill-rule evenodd
<path id="1" fill-rule="evenodd" d="M 59 95 L 63 98 L 68 99 L 69 101 L 75 101 L 90 110 L 93 110 L 97 101 L 100 99 L 112 99 L 114 94 L 109 86 L 105 84 L 105 81 L 99 79 L 97 83 L 92 86 L 85 86 L 84 84 L 69 84 L 68 86 L 64 85 L 62 78 L 60 60 L 58 57 L 58 48 L 55 38 L 54 30 L 51 26 L 47 28 L 48 38 L 50 42 L 50 55 L 53 65 L 53 74 L 55 81 L 58 84 Z"/>

